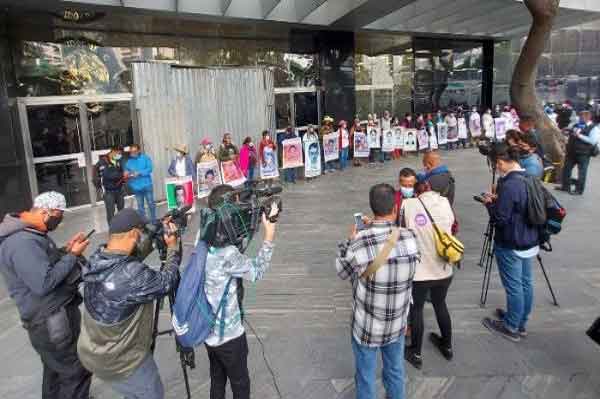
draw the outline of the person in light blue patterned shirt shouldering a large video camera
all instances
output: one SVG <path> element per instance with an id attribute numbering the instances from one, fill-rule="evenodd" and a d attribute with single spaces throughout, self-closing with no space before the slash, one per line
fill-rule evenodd
<path id="1" fill-rule="evenodd" d="M 275 238 L 271 218 L 279 213 L 278 206 L 270 206 L 269 215 L 258 215 L 262 218 L 264 241 L 256 257 L 250 258 L 240 249 L 242 239 L 235 229 L 244 223 L 238 196 L 229 185 L 215 187 L 208 197 L 208 212 L 214 218 L 208 213 L 201 216 L 205 220 L 201 221 L 199 238 L 208 245 L 204 290 L 213 311 L 222 316 L 204 340 L 210 361 L 210 399 L 225 398 L 228 379 L 234 399 L 250 397 L 248 342 L 242 324 L 239 279 L 261 280 L 271 266 Z M 223 309 L 222 313 L 219 309 Z"/>

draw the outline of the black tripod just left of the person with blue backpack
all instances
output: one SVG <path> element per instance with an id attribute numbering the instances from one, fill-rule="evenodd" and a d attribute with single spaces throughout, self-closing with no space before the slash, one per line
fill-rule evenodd
<path id="1" fill-rule="evenodd" d="M 166 247 L 159 246 L 158 253 L 160 257 L 161 270 L 164 269 L 165 264 L 167 262 L 167 249 Z M 181 241 L 179 241 L 179 251 L 181 252 L 183 245 Z M 169 310 L 171 312 L 171 316 L 173 316 L 173 304 L 175 303 L 175 293 L 177 292 L 177 287 L 174 287 L 169 293 Z M 154 353 L 154 349 L 156 348 L 156 338 L 161 335 L 172 335 L 173 329 L 159 331 L 158 330 L 158 317 L 160 314 L 160 310 L 163 307 L 163 298 L 156 300 L 156 306 L 154 308 L 154 328 L 152 331 L 152 345 L 150 346 L 150 350 Z M 187 393 L 187 399 L 191 399 L 192 394 L 190 391 L 190 381 L 188 378 L 187 368 L 190 369 L 196 368 L 196 355 L 194 353 L 193 348 L 184 348 L 181 346 L 177 338 L 175 338 L 175 349 L 179 353 L 179 361 L 181 362 L 181 370 L 183 371 L 183 381 L 185 383 L 185 391 Z"/>

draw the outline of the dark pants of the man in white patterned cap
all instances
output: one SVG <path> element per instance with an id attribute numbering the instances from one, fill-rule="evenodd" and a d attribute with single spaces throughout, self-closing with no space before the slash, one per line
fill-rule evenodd
<path id="1" fill-rule="evenodd" d="M 29 340 L 40 355 L 44 367 L 42 399 L 88 399 L 92 374 L 77 357 L 81 314 L 77 306 L 68 306 L 72 339 L 60 347 L 52 344 L 45 323 L 30 327 Z"/>

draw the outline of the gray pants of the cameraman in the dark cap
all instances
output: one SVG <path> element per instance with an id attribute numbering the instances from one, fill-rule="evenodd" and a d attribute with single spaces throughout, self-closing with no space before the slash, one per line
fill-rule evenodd
<path id="1" fill-rule="evenodd" d="M 165 390 L 160 380 L 158 367 L 151 353 L 129 377 L 111 381 L 112 389 L 125 399 L 163 399 Z"/>

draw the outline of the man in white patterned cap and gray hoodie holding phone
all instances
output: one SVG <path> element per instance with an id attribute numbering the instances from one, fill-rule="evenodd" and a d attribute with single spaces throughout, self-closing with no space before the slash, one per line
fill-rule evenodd
<path id="1" fill-rule="evenodd" d="M 48 236 L 66 206 L 62 194 L 46 192 L 35 198 L 30 211 L 6 215 L 0 224 L 0 271 L 42 360 L 43 399 L 87 399 L 92 381 L 76 350 L 81 319 L 77 264 L 89 241 L 79 233 L 59 249 Z"/>

